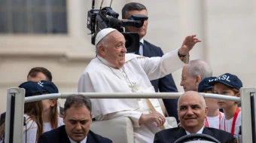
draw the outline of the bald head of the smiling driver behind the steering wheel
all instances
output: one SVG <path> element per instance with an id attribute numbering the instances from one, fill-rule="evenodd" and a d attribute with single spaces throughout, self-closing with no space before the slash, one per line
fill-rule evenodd
<path id="1" fill-rule="evenodd" d="M 200 130 L 207 114 L 208 108 L 202 103 L 197 92 L 189 91 L 178 101 L 178 119 L 181 126 L 186 129 Z"/>

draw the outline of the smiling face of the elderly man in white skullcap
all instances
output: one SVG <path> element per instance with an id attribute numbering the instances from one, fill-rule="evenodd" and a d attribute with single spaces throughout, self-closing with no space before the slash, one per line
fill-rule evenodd
<path id="1" fill-rule="evenodd" d="M 100 52 L 103 58 L 112 65 L 117 68 L 122 68 L 125 62 L 125 53 L 127 52 L 125 38 L 118 31 L 111 32 L 107 36 L 111 36 L 109 38 L 108 47 L 103 47 Z"/>

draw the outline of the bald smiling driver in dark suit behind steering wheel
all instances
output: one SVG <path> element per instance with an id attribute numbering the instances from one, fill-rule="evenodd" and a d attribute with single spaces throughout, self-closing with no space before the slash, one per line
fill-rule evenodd
<path id="1" fill-rule="evenodd" d="M 208 108 L 203 96 L 195 91 L 187 91 L 178 99 L 178 118 L 181 127 L 164 129 L 154 136 L 154 143 L 175 142 L 184 135 L 194 133 L 211 135 L 221 143 L 233 143 L 234 138 L 229 132 L 204 126 Z"/>

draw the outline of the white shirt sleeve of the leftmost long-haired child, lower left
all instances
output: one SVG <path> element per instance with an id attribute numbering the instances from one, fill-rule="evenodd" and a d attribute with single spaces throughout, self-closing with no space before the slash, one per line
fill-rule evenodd
<path id="1" fill-rule="evenodd" d="M 28 130 L 26 131 L 26 129 Z M 26 123 L 26 126 L 23 127 L 23 143 L 36 143 L 37 131 L 38 125 L 33 120 Z"/>

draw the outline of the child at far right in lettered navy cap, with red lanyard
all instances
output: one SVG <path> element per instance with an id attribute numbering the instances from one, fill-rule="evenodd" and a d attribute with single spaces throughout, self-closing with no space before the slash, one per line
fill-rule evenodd
<path id="1" fill-rule="evenodd" d="M 213 85 L 213 91 L 216 94 L 240 96 L 239 89 L 242 87 L 242 81 L 236 75 L 226 73 L 210 81 L 209 84 Z M 236 138 L 235 142 L 241 143 L 242 136 L 239 135 L 239 126 L 241 126 L 242 120 L 238 103 L 218 100 L 218 107 L 224 111 L 224 116 L 221 119 L 221 129 L 230 132 Z"/>

